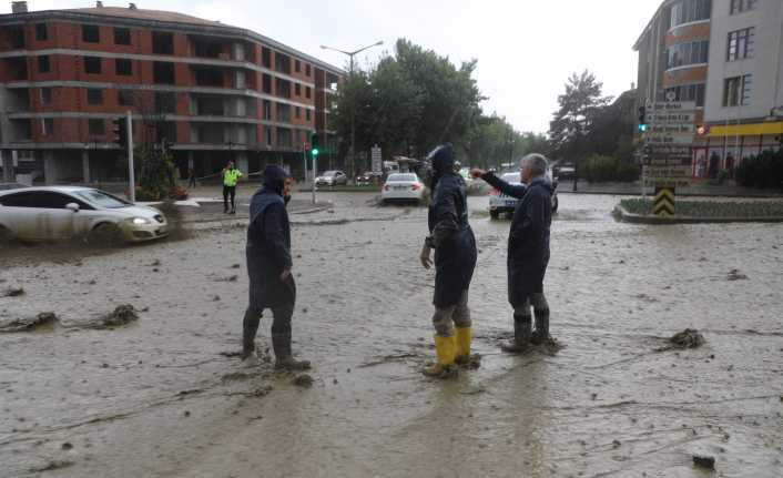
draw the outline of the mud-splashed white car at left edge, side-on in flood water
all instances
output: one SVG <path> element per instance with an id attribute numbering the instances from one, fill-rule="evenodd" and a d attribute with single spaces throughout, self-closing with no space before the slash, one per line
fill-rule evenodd
<path id="1" fill-rule="evenodd" d="M 0 191 L 0 237 L 142 242 L 169 235 L 165 216 L 91 187 Z"/>

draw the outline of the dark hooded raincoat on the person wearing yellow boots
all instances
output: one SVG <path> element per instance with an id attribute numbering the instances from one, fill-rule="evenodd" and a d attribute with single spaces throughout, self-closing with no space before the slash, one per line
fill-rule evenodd
<path id="1" fill-rule="evenodd" d="M 438 308 L 456 305 L 470 287 L 476 268 L 476 237 L 468 223 L 467 186 L 454 172 L 450 144 L 438 146 L 431 154 L 433 201 L 427 222 L 427 244 L 435 248 L 435 297 Z"/>

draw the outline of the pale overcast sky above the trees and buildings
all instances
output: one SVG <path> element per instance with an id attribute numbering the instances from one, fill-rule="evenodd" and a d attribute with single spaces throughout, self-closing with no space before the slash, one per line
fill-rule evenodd
<path id="1" fill-rule="evenodd" d="M 604 94 L 637 80 L 633 43 L 661 0 L 136 0 L 140 9 L 172 10 L 254 30 L 338 67 L 378 40 L 362 65 L 390 53 L 404 37 L 448 55 L 478 60 L 476 78 L 487 113 L 520 131 L 546 132 L 557 96 L 572 72 L 591 70 Z M 104 0 L 104 6 L 125 6 Z M 32 0 L 29 9 L 93 7 L 94 1 Z M 11 0 L 0 12 L 8 13 Z"/>

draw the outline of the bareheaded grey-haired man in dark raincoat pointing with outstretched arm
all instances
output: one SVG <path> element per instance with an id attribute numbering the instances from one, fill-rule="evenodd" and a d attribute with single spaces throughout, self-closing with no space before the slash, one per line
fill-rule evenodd
<path id="1" fill-rule="evenodd" d="M 522 185 L 511 185 L 491 172 L 472 170 L 500 192 L 520 201 L 513 211 L 508 236 L 508 302 L 513 307 L 513 340 L 501 347 L 509 353 L 525 352 L 529 344 L 548 340 L 549 304 L 543 295 L 543 276 L 549 264 L 549 230 L 552 223 L 551 181 L 547 177 L 547 159 L 528 154 L 520 161 Z M 530 305 L 536 316 L 532 333 Z"/>

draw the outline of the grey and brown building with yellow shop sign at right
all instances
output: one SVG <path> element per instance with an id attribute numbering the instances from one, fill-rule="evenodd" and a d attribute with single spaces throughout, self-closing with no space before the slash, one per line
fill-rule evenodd
<path id="1" fill-rule="evenodd" d="M 783 138 L 783 2 L 667 0 L 634 44 L 638 105 L 695 102 L 693 175 L 733 174 Z"/>

